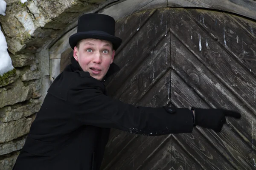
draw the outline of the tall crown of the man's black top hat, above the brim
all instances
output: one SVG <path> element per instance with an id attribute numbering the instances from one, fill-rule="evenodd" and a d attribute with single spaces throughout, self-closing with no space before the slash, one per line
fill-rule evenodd
<path id="1" fill-rule="evenodd" d="M 77 32 L 103 31 L 115 35 L 115 20 L 105 14 L 84 14 L 79 17 Z"/>

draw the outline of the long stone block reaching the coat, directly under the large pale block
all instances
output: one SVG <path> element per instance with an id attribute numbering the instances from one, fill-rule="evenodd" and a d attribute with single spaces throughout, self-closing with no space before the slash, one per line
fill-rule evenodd
<path id="1" fill-rule="evenodd" d="M 31 116 L 40 110 L 41 103 L 38 100 L 32 100 L 18 103 L 12 106 L 0 108 L 0 121 L 11 122 L 23 117 Z"/>

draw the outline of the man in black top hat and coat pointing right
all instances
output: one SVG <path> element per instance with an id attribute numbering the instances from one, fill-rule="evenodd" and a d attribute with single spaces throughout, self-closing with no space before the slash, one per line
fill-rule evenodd
<path id="1" fill-rule="evenodd" d="M 219 132 L 225 116 L 240 118 L 222 109 L 135 107 L 111 99 L 104 79 L 116 71 L 122 42 L 114 31 L 108 15 L 79 18 L 69 39 L 71 65 L 49 88 L 14 170 L 99 170 L 110 128 L 154 136 L 191 133 L 194 125 Z"/>

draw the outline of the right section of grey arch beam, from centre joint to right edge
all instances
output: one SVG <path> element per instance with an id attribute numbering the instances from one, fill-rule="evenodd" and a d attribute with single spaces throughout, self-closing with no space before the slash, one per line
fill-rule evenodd
<path id="1" fill-rule="evenodd" d="M 217 9 L 256 20 L 256 2 L 253 0 L 168 0 L 168 7 Z"/>

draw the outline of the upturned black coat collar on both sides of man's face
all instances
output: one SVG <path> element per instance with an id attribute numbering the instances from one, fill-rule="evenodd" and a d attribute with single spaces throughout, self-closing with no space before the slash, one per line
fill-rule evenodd
<path id="1" fill-rule="evenodd" d="M 76 59 L 72 56 L 71 57 L 71 71 L 83 71 L 79 63 L 76 61 Z M 103 78 L 103 81 L 105 81 L 108 77 L 111 77 L 114 73 L 118 72 L 120 70 L 119 66 L 116 65 L 114 62 L 110 65 L 107 74 Z"/>

